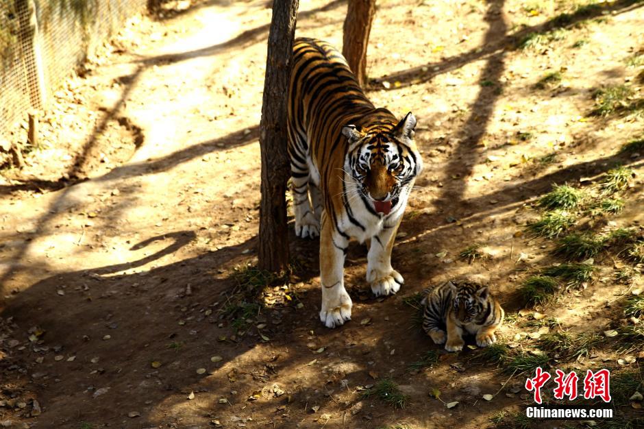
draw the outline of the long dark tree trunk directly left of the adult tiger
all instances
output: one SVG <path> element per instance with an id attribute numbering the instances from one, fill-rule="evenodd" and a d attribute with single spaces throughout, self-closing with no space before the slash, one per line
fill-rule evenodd
<path id="1" fill-rule="evenodd" d="M 299 0 L 273 1 L 269 49 L 260 122 L 262 203 L 259 267 L 280 272 L 288 266 L 286 182 L 290 164 L 286 149 L 286 97 L 293 59 Z"/>

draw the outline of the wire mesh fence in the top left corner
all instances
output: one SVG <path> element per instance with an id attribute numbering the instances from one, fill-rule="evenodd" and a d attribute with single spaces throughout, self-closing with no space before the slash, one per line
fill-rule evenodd
<path id="1" fill-rule="evenodd" d="M 0 143 L 150 0 L 0 0 Z M 6 140 L 5 140 L 6 141 Z"/>

